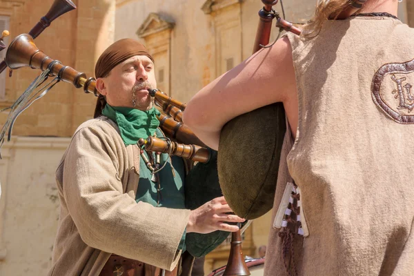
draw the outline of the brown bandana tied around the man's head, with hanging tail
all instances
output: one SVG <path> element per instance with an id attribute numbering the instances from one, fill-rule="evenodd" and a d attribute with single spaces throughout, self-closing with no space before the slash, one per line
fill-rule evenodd
<path id="1" fill-rule="evenodd" d="M 139 43 L 135 39 L 120 39 L 115 43 L 112 43 L 111 46 L 103 51 L 101 57 L 99 57 L 95 66 L 95 77 L 106 77 L 110 70 L 112 70 L 119 63 L 137 55 L 149 57 L 152 62 L 154 62 L 154 59 L 148 53 L 148 50 L 146 50 L 144 44 Z M 105 106 L 105 97 L 99 95 L 94 118 L 101 115 L 101 112 Z"/>

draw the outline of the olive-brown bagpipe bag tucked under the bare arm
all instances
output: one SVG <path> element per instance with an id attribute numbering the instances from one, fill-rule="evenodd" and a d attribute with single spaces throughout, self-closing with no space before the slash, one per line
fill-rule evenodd
<path id="1" fill-rule="evenodd" d="M 239 217 L 256 219 L 273 207 L 285 132 L 283 103 L 236 117 L 221 130 L 219 183 Z"/>

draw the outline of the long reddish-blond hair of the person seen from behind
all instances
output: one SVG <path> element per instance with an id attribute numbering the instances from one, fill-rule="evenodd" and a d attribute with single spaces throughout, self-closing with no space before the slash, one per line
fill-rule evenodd
<path id="1" fill-rule="evenodd" d="M 346 8 L 351 6 L 352 0 L 319 0 L 316 4 L 315 15 L 304 27 L 304 37 L 316 37 L 322 25 L 328 19 L 336 19 Z"/>

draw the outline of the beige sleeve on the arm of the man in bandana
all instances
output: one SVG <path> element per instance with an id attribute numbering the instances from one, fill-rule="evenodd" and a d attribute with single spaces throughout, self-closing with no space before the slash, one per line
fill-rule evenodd
<path id="1" fill-rule="evenodd" d="M 129 168 L 119 168 L 127 160 L 120 150 L 113 137 L 94 128 L 75 134 L 63 170 L 70 216 L 88 246 L 172 270 L 190 211 L 136 203 L 123 193 L 118 175 Z"/>

